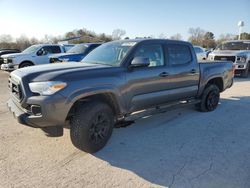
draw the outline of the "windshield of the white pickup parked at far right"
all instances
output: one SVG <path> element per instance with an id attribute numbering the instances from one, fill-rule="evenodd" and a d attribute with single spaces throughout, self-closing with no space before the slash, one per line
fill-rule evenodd
<path id="1" fill-rule="evenodd" d="M 250 50 L 250 42 L 226 42 L 218 45 L 215 50 Z"/>

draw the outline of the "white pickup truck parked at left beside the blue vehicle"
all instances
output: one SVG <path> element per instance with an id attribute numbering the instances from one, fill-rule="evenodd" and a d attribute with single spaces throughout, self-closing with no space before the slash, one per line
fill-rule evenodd
<path id="1" fill-rule="evenodd" d="M 3 58 L 2 70 L 12 71 L 32 65 L 47 64 L 51 54 L 63 53 L 65 48 L 58 44 L 37 44 L 25 49 L 22 53 L 8 54 Z"/>

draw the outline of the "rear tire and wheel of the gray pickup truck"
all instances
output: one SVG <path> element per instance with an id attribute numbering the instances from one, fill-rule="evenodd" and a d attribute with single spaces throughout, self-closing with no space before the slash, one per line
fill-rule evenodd
<path id="1" fill-rule="evenodd" d="M 216 85 L 207 86 L 201 96 L 201 102 L 196 105 L 201 112 L 214 111 L 220 100 L 220 90 Z"/>

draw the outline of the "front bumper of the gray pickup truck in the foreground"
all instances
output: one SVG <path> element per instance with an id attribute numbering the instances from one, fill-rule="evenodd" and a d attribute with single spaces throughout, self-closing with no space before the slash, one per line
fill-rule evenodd
<path id="1" fill-rule="evenodd" d="M 20 124 L 35 128 L 51 126 L 64 126 L 70 105 L 65 105 L 65 98 L 61 95 L 55 97 L 30 97 L 27 100 L 29 109 L 21 107 L 20 103 L 9 99 L 7 106 Z M 36 110 L 32 107 L 37 107 Z M 38 109 L 38 110 L 37 110 Z"/>

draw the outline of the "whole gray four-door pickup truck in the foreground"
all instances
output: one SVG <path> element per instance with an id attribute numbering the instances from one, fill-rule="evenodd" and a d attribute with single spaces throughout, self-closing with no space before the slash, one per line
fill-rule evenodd
<path id="1" fill-rule="evenodd" d="M 232 62 L 199 64 L 188 42 L 113 41 L 81 63 L 12 72 L 7 104 L 24 125 L 69 124 L 72 143 L 93 153 L 105 146 L 119 123 L 184 104 L 213 111 L 233 77 Z"/>

